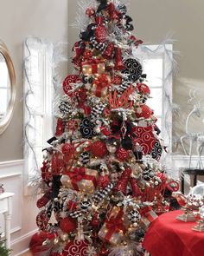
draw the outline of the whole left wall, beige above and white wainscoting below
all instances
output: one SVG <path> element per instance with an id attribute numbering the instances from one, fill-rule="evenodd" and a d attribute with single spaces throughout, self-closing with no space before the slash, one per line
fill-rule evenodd
<path id="1" fill-rule="evenodd" d="M 67 42 L 67 0 L 0 0 L 0 39 L 10 49 L 17 80 L 14 117 L 9 128 L 0 135 L 0 183 L 7 192 L 15 193 L 12 215 L 12 255 L 29 246 L 35 233 L 36 199 L 23 193 L 23 135 L 22 135 L 22 43 L 26 36 L 39 36 L 51 42 Z M 67 49 L 64 52 L 67 55 Z M 59 68 L 59 75 L 67 75 L 67 63 Z M 0 231 L 3 217 L 0 216 Z"/>

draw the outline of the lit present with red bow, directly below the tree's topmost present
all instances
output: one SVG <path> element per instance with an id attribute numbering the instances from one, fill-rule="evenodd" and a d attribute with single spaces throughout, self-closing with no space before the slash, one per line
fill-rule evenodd
<path id="1" fill-rule="evenodd" d="M 102 74 L 97 77 L 92 85 L 92 93 L 97 97 L 103 97 L 107 95 L 110 85 L 110 79 L 108 75 Z"/>

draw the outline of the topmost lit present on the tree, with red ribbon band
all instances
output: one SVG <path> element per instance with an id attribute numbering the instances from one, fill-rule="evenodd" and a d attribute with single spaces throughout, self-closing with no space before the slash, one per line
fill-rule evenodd
<path id="1" fill-rule="evenodd" d="M 103 74 L 105 73 L 105 62 L 100 60 L 91 60 L 81 63 L 81 71 L 83 74 Z"/>

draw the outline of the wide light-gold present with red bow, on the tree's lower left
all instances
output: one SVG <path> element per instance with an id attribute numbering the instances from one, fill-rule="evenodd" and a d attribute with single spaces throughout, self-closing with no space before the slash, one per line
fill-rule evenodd
<path id="1" fill-rule="evenodd" d="M 62 175 L 61 183 L 63 187 L 91 194 L 97 187 L 97 179 L 98 172 L 96 170 L 73 167 L 67 174 Z"/>

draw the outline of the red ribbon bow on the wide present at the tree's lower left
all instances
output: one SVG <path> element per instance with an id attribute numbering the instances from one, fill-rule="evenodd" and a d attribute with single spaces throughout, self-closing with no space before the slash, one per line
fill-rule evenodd
<path id="1" fill-rule="evenodd" d="M 96 178 L 92 175 L 86 174 L 85 167 L 73 167 L 72 172 L 68 173 L 68 176 L 72 182 L 73 189 L 79 191 L 78 182 L 82 180 L 92 181 L 94 187 L 97 186 Z"/>

